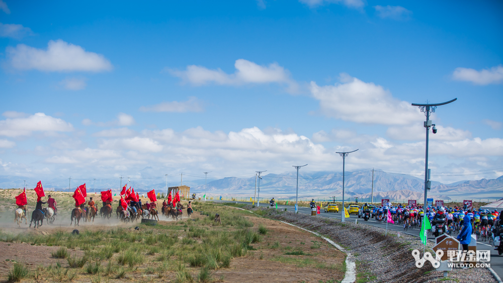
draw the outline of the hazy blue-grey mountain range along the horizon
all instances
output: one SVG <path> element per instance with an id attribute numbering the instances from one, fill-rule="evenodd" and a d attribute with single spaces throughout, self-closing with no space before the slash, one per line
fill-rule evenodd
<path id="1" fill-rule="evenodd" d="M 311 172 L 299 173 L 299 198 L 342 198 L 342 173 L 341 172 Z M 23 180 L 33 188 L 38 180 L 33 178 L 23 178 L 18 176 L 0 176 L 0 188 L 19 188 L 23 186 Z M 127 179 L 122 179 L 123 184 Z M 226 177 L 207 182 L 206 192 L 209 196 L 228 196 L 238 198 L 249 198 L 255 194 L 255 176 L 250 178 Z M 283 174 L 267 174 L 260 180 L 260 197 L 277 199 L 295 199 L 297 184 L 296 173 L 289 172 Z M 85 182 L 85 180 L 75 179 L 71 181 L 72 187 Z M 184 185 L 191 187 L 191 192 L 204 194 L 204 178 L 184 180 Z M 135 191 L 145 193 L 152 189 L 156 192 L 164 192 L 166 182 L 163 177 L 138 178 L 132 182 Z M 43 180 L 46 190 L 65 191 L 68 190 L 68 179 Z M 179 185 L 180 183 L 169 182 L 168 186 Z M 93 192 L 93 181 L 88 181 L 88 192 Z M 120 186 L 119 178 L 105 179 L 97 181 L 96 190 L 108 190 L 112 188 L 118 192 Z M 390 199 L 396 201 L 418 200 L 421 203 L 424 198 L 424 179 L 415 176 L 391 174 L 380 170 L 374 171 L 374 201 Z M 257 188 L 257 193 L 259 188 Z M 354 201 L 356 197 L 360 201 L 368 201 L 372 191 L 372 172 L 346 172 L 345 179 L 345 199 Z M 432 181 L 432 189 L 429 197 L 441 200 L 463 199 L 473 200 L 495 200 L 503 197 L 503 176 L 496 179 L 481 179 L 475 181 L 458 181 L 451 184 L 442 184 Z"/>

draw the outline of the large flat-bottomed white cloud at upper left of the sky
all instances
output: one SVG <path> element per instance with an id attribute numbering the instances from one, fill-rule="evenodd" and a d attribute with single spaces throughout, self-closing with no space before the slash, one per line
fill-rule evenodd
<path id="1" fill-rule="evenodd" d="M 20 70 L 65 72 L 112 70 L 112 64 L 103 55 L 86 51 L 61 39 L 50 40 L 47 50 L 18 44 L 16 47 L 7 47 L 6 51 L 11 65 Z"/>

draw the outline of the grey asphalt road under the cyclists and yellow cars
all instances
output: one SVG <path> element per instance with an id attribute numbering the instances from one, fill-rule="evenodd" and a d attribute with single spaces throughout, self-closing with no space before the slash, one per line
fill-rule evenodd
<path id="1" fill-rule="evenodd" d="M 222 203 L 229 203 L 230 201 L 215 201 L 215 202 L 222 202 Z M 234 203 L 234 202 L 233 202 Z M 251 204 L 250 202 L 237 202 L 240 204 Z M 269 206 L 269 204 L 260 204 L 260 206 Z M 295 207 L 293 206 L 284 206 L 284 205 L 278 205 L 278 209 L 284 210 L 287 209 L 287 211 L 290 212 L 295 212 Z M 299 213 L 304 213 L 304 214 L 311 214 L 311 209 L 307 207 L 299 207 Z M 341 219 L 341 213 L 324 213 L 321 212 L 320 216 L 327 217 L 327 218 L 337 218 Z M 350 218 L 346 218 L 346 221 L 358 221 L 359 224 L 366 224 L 366 225 L 372 225 L 372 226 L 378 226 L 382 228 L 386 228 L 386 224 L 377 224 L 375 220 L 369 220 L 369 221 L 364 221 L 363 218 L 358 218 L 358 215 L 350 215 Z M 420 229 L 408 229 L 407 232 L 403 231 L 402 226 L 398 225 L 391 225 L 388 224 L 388 229 L 392 231 L 397 231 L 400 233 L 407 233 L 412 236 L 419 237 L 420 234 Z M 454 237 L 456 235 L 453 235 Z M 430 236 L 428 239 L 435 240 L 435 237 Z M 477 242 L 477 250 L 490 250 L 491 251 L 491 268 L 498 274 L 500 278 L 503 279 L 503 256 L 498 255 L 497 251 L 494 250 L 493 247 L 489 246 L 489 241 L 486 242 Z"/>

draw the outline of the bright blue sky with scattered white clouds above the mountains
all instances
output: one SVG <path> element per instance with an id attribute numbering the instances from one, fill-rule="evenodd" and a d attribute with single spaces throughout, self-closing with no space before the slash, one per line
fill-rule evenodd
<path id="1" fill-rule="evenodd" d="M 353 148 L 350 170 L 421 173 L 424 115 L 410 103 L 458 98 L 433 117 L 430 159 L 461 176 L 436 178 L 497 177 L 502 12 L 498 1 L 2 1 L 0 175 L 340 171 L 334 152 Z"/>

